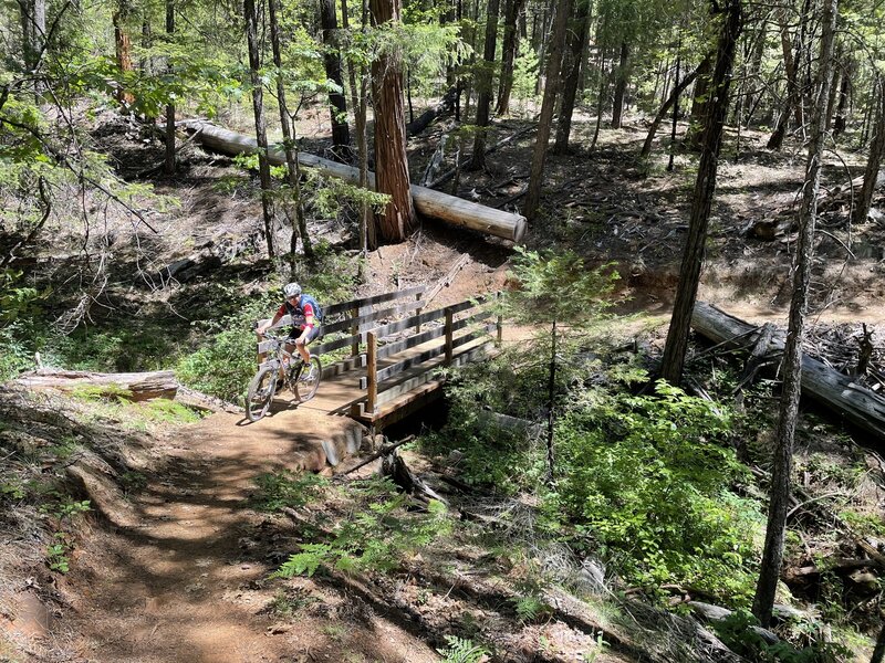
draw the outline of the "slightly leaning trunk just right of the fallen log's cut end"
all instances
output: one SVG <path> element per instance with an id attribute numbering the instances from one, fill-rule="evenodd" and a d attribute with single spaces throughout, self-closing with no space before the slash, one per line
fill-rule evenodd
<path id="1" fill-rule="evenodd" d="M 571 12 L 571 0 L 556 1 L 556 15 L 553 22 L 553 34 L 551 35 L 550 59 L 546 62 L 546 83 L 544 85 L 544 101 L 541 104 L 541 116 L 538 119 L 538 138 L 534 143 L 532 155 L 532 167 L 529 172 L 529 188 L 525 193 L 525 209 L 523 214 L 528 219 L 533 219 L 538 211 L 541 200 L 541 186 L 544 180 L 544 160 L 546 159 L 548 140 L 550 139 L 550 128 L 553 124 L 553 110 L 556 107 L 556 95 L 559 94 L 562 76 L 562 51 L 565 45 L 565 29 L 569 24 Z"/>

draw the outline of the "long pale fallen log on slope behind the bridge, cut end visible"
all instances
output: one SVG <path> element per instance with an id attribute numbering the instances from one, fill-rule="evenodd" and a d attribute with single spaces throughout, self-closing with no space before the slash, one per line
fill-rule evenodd
<path id="1" fill-rule="evenodd" d="M 222 129 L 211 123 L 188 119 L 179 122 L 178 126 L 190 131 L 198 131 L 197 140 L 209 149 L 226 155 L 254 154 L 258 149 L 256 139 Z M 268 148 L 268 159 L 271 164 L 285 164 L 285 154 L 281 147 Z M 337 164 L 306 152 L 299 152 L 298 160 L 302 166 L 317 168 L 319 170 L 337 177 L 351 183 L 360 182 L 360 170 L 344 164 Z M 368 173 L 368 185 L 375 188 L 375 173 Z M 451 223 L 477 230 L 514 242 L 521 242 L 525 234 L 527 221 L 521 214 L 512 214 L 496 210 L 476 202 L 470 202 L 455 196 L 448 196 L 440 191 L 434 191 L 426 187 L 412 185 L 412 198 L 415 201 L 415 209 L 419 213 Z"/>

